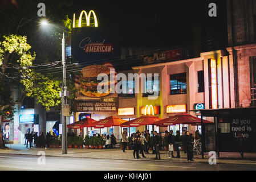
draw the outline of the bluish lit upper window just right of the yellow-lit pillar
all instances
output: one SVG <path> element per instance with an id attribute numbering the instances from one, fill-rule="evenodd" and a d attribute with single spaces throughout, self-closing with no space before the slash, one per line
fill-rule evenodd
<path id="1" fill-rule="evenodd" d="M 170 94 L 186 94 L 186 73 L 170 75 Z"/>

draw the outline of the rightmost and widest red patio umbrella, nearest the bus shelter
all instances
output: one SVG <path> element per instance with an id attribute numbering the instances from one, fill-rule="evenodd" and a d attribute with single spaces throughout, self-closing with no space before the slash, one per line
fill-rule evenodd
<path id="1" fill-rule="evenodd" d="M 203 119 L 204 123 L 213 123 Z M 193 115 L 187 113 L 179 113 L 172 117 L 162 119 L 153 123 L 153 125 L 157 126 L 169 126 L 169 125 L 201 125 L 201 118 L 194 117 Z"/>

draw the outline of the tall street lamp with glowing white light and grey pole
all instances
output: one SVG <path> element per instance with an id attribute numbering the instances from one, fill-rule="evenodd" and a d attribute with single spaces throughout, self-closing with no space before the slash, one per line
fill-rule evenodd
<path id="1" fill-rule="evenodd" d="M 50 23 L 47 20 L 42 20 L 40 22 L 41 26 L 48 26 Z M 56 27 L 56 26 L 55 26 Z M 66 61 L 65 61 L 65 37 L 64 37 L 64 27 L 59 27 L 63 29 L 62 38 L 62 70 L 63 70 L 63 82 L 62 82 L 62 154 L 67 154 L 67 122 L 66 116 L 63 115 L 64 106 L 67 104 L 67 85 L 66 85 Z"/>

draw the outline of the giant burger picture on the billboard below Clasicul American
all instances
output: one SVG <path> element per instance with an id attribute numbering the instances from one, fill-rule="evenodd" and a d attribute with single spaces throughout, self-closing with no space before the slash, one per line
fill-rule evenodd
<path id="1" fill-rule="evenodd" d="M 75 82 L 79 85 L 79 94 L 87 97 L 104 97 L 110 93 L 110 86 L 108 86 L 108 93 L 100 93 L 97 91 L 97 85 L 99 82 L 103 83 L 103 80 L 97 80 L 97 76 L 100 73 L 108 75 L 108 85 L 110 85 L 110 69 L 113 69 L 111 63 L 95 64 L 84 67 L 81 70 L 82 76 L 76 76 Z M 116 74 L 116 73 L 115 73 Z"/>

